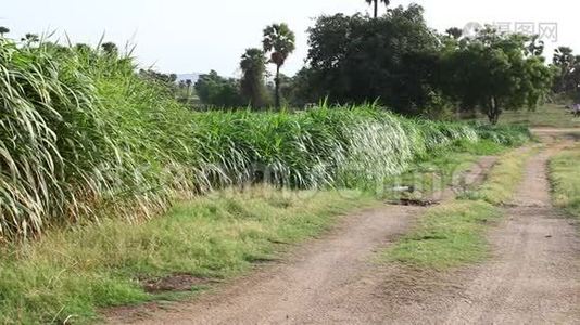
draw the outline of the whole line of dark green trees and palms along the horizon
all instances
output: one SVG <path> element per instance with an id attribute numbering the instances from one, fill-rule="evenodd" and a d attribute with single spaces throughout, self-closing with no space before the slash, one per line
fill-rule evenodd
<path id="1" fill-rule="evenodd" d="M 580 101 L 580 55 L 560 47 L 544 58 L 538 36 L 500 34 L 486 27 L 464 36 L 456 27 L 443 34 L 427 26 L 418 4 L 389 8 L 387 0 L 365 0 L 374 15 L 323 15 L 308 32 L 305 65 L 293 77 L 281 73 L 294 51 L 287 24 L 263 30 L 262 47 L 240 57 L 241 77 L 216 72 L 176 83 L 175 75 L 141 70 L 176 93 L 191 93 L 206 107 L 304 107 L 328 104 L 379 106 L 408 116 L 445 118 L 481 112 L 496 123 L 509 109 L 533 109 L 554 94 Z M 379 4 L 387 11 L 378 14 Z M 0 27 L 0 35 L 9 32 Z M 29 39 L 34 41 L 34 37 Z M 116 52 L 112 43 L 102 44 Z M 267 65 L 275 66 L 270 79 Z"/>

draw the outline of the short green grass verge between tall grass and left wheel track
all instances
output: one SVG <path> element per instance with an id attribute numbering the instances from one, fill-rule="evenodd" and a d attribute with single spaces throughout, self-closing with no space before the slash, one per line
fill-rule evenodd
<path id="1" fill-rule="evenodd" d="M 428 184 L 423 195 L 451 183 L 480 155 L 506 147 L 458 141 L 417 157 L 401 180 Z M 88 323 L 106 307 L 179 299 L 215 280 L 243 274 L 316 236 L 341 214 L 377 206 L 381 193 L 229 188 L 177 204 L 143 223 L 118 218 L 52 229 L 38 240 L 0 247 L 0 323 Z M 182 275 L 199 280 L 188 292 L 147 292 L 143 283 Z"/>

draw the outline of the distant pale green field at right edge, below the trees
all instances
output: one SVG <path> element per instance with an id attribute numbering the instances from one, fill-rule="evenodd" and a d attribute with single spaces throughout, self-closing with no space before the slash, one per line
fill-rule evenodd
<path id="1" fill-rule="evenodd" d="M 478 120 L 487 120 L 481 115 Z M 580 128 L 580 118 L 575 118 L 564 105 L 546 104 L 534 112 L 522 109 L 505 112 L 500 117 L 500 123 L 522 123 L 530 127 Z"/>

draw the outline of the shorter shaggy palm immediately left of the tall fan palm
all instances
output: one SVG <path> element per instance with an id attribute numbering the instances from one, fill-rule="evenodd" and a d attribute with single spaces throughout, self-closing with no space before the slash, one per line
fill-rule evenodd
<path id="1" fill-rule="evenodd" d="M 261 49 L 248 49 L 241 56 L 240 68 L 243 76 L 240 80 L 241 94 L 254 107 L 266 106 L 266 56 Z"/>

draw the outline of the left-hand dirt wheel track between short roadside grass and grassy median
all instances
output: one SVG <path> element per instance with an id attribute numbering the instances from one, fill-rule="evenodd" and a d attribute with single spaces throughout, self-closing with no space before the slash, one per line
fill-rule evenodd
<path id="1" fill-rule="evenodd" d="M 494 157 L 459 183 L 481 181 Z M 457 183 L 457 182 L 456 182 Z M 451 190 L 444 199 L 453 198 Z M 371 261 L 376 249 L 399 238 L 425 208 L 383 206 L 343 219 L 330 234 L 295 249 L 286 262 L 263 270 L 217 292 L 166 310 L 124 310 L 110 315 L 114 324 L 283 324 L 376 323 L 383 320 L 384 300 L 377 295 L 387 274 Z"/>

